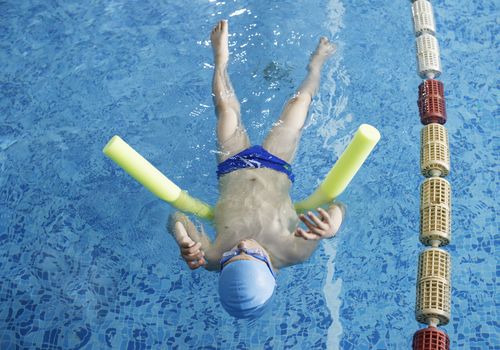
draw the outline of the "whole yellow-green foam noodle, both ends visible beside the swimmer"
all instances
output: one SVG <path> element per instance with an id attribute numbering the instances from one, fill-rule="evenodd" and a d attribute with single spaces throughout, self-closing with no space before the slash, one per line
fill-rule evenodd
<path id="1" fill-rule="evenodd" d="M 339 196 L 361 168 L 379 139 L 380 133 L 377 129 L 371 125 L 362 124 L 321 185 L 308 198 L 295 203 L 295 210 L 302 212 L 315 209 Z M 213 219 L 213 207 L 181 190 L 119 136 L 114 136 L 104 147 L 103 152 L 160 199 L 179 210 L 203 219 Z"/>

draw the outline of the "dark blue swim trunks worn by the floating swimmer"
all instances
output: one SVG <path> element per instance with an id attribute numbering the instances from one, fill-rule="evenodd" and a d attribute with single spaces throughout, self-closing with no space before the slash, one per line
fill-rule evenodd
<path id="1" fill-rule="evenodd" d="M 217 167 L 217 178 L 238 169 L 269 168 L 285 173 L 290 181 L 295 180 L 292 166 L 284 160 L 272 155 L 262 146 L 252 146 L 232 157 L 229 157 Z"/>

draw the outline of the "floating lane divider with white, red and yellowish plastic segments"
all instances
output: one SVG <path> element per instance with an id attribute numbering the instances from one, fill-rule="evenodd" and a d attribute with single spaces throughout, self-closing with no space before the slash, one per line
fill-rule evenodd
<path id="1" fill-rule="evenodd" d="M 451 241 L 450 150 L 446 123 L 444 86 L 439 43 L 432 5 L 428 0 L 412 1 L 416 37 L 418 111 L 424 125 L 420 133 L 420 242 L 428 248 L 418 259 L 415 318 L 426 328 L 413 335 L 413 350 L 449 350 L 450 339 L 438 326 L 450 321 L 451 256 L 440 247 Z"/>

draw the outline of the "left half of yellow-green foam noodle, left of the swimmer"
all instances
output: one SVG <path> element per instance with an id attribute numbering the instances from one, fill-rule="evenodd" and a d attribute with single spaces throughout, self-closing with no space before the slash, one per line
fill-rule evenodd
<path id="1" fill-rule="evenodd" d="M 102 151 L 160 199 L 179 210 L 209 220 L 213 218 L 213 208 L 210 205 L 182 191 L 119 136 L 113 136 Z"/>

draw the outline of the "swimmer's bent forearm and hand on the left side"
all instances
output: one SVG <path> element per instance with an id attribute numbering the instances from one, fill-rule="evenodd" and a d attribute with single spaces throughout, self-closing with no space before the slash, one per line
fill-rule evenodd
<path id="1" fill-rule="evenodd" d="M 218 268 L 218 262 L 213 258 L 213 245 L 203 227 L 198 230 L 186 215 L 176 212 L 170 217 L 169 231 L 174 236 L 181 255 L 191 270 L 200 266 L 207 270 Z"/>

